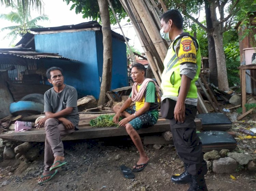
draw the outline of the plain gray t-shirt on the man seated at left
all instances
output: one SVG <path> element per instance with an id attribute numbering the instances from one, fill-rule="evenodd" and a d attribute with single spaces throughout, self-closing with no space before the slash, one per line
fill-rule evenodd
<path id="1" fill-rule="evenodd" d="M 44 93 L 44 112 L 57 113 L 67 107 L 73 107 L 73 110 L 71 114 L 65 116 L 65 118 L 78 128 L 79 114 L 77 109 L 76 89 L 66 85 L 59 93 L 54 91 L 53 87 Z"/>

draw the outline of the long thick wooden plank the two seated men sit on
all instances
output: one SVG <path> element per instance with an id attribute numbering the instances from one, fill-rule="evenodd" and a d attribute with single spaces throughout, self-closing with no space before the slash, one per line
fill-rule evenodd
<path id="1" fill-rule="evenodd" d="M 169 121 L 158 121 L 154 126 L 142 128 L 137 132 L 139 134 L 166 132 L 170 130 Z M 101 128 L 81 128 L 72 134 L 62 138 L 62 140 L 94 139 L 101 137 L 114 137 L 128 135 L 125 127 L 101 127 Z M 0 138 L 11 141 L 23 142 L 44 142 L 44 129 L 34 129 L 26 132 L 14 132 L 10 134 L 1 134 Z"/>

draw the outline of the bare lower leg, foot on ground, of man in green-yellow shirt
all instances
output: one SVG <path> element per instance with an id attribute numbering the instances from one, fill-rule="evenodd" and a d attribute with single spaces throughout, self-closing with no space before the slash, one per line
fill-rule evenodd
<path id="1" fill-rule="evenodd" d="M 146 164 L 149 160 L 149 158 L 147 157 L 144 149 L 143 149 L 143 145 L 141 142 L 141 138 L 139 136 L 139 134 L 137 133 L 137 131 L 132 127 L 132 125 L 130 123 L 127 123 L 126 126 L 126 131 L 128 133 L 128 135 L 131 137 L 131 140 L 133 141 L 134 145 L 137 147 L 139 154 L 140 154 L 140 159 L 137 162 L 137 164 Z M 137 167 L 133 167 L 133 168 L 141 168 L 142 166 L 137 166 Z"/>

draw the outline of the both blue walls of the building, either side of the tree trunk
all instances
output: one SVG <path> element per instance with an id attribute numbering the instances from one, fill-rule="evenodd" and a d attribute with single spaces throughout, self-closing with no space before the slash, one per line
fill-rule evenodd
<path id="1" fill-rule="evenodd" d="M 113 75 L 111 88 L 128 85 L 126 71 L 126 45 L 113 39 Z M 72 33 L 54 33 L 35 35 L 37 52 L 59 53 L 79 60 L 81 63 L 67 61 L 49 61 L 46 68 L 63 68 L 65 83 L 77 89 L 79 97 L 93 95 L 99 98 L 100 80 L 103 64 L 102 33 L 99 31 L 80 31 Z"/>

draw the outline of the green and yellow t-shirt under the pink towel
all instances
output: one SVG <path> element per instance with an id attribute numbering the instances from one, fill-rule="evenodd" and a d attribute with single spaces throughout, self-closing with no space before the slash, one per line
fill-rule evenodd
<path id="1" fill-rule="evenodd" d="M 141 85 L 137 86 L 138 91 L 139 91 L 140 87 L 141 87 Z M 129 97 L 131 97 L 131 93 L 130 93 Z M 144 106 L 145 102 L 151 103 L 150 109 L 148 111 L 150 111 L 151 114 L 154 116 L 154 118 L 156 120 L 158 120 L 159 103 L 158 103 L 158 99 L 157 99 L 156 86 L 155 86 L 154 82 L 148 82 L 144 98 L 138 102 L 135 102 L 136 111 L 138 111 L 140 108 L 142 108 Z"/>

